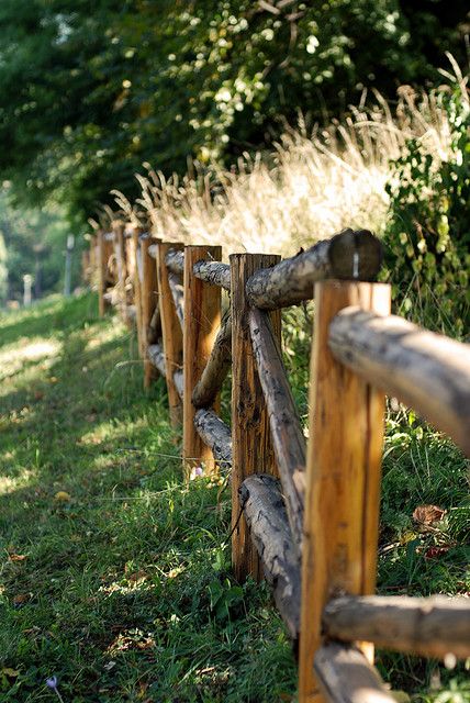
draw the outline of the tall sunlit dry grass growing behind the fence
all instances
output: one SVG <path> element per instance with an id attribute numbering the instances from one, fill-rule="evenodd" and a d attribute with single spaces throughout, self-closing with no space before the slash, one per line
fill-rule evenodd
<path id="1" fill-rule="evenodd" d="M 365 104 L 366 94 L 345 122 L 311 134 L 300 121 L 273 153 L 245 154 L 231 170 L 191 164 L 183 178 L 167 179 L 147 164 L 146 175 L 137 175 L 136 205 L 119 191 L 116 202 L 127 217 L 146 213 L 163 239 L 219 243 L 225 254 L 287 256 L 346 226 L 380 234 L 390 159 L 417 136 L 438 167 L 449 153 L 450 129 L 436 93 L 404 86 L 393 111 L 380 94 L 371 109 Z"/>

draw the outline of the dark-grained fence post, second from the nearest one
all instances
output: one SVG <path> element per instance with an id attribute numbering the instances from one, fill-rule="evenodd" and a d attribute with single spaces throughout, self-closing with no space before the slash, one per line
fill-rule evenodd
<path id="1" fill-rule="evenodd" d="M 269 254 L 232 254 L 232 562 L 235 577 L 260 578 L 256 547 L 240 513 L 238 489 L 251 473 L 275 473 L 269 419 L 258 379 L 249 334 L 249 304 L 245 286 L 256 270 L 275 266 L 280 256 Z M 270 313 L 280 341 L 280 311 Z"/>

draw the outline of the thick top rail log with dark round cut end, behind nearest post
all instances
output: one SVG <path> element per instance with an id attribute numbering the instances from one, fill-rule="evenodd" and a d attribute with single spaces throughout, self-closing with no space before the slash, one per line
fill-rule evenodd
<path id="1" fill-rule="evenodd" d="M 306 252 L 284 259 L 247 281 L 251 305 L 276 310 L 296 305 L 313 294 L 315 281 L 327 278 L 370 281 L 380 270 L 382 245 L 368 230 L 345 230 Z"/>

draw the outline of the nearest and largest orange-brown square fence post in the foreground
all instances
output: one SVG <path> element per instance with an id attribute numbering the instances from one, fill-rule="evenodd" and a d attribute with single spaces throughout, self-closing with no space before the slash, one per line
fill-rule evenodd
<path id="1" fill-rule="evenodd" d="M 329 323 L 347 305 L 388 314 L 390 287 L 333 280 L 315 284 L 299 703 L 325 700 L 313 673 L 325 604 L 335 593 L 367 594 L 376 585 L 384 395 L 329 352 Z"/>

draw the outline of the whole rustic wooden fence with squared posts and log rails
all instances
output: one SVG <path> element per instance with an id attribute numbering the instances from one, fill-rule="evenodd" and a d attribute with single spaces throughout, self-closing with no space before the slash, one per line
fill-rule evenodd
<path id="1" fill-rule="evenodd" d="M 231 469 L 237 579 L 261 573 L 299 652 L 299 700 L 393 701 L 373 645 L 470 656 L 470 601 L 376 588 L 384 394 L 470 455 L 469 346 L 390 314 L 380 242 L 347 230 L 290 259 L 98 232 L 100 313 L 136 324 L 144 386 L 166 379 L 183 470 Z M 228 303 L 223 306 L 222 291 Z M 309 442 L 281 358 L 280 309 L 315 299 Z M 223 311 L 224 310 L 224 311 Z M 219 416 L 232 369 L 232 427 Z"/>

